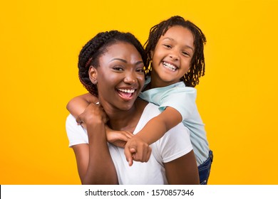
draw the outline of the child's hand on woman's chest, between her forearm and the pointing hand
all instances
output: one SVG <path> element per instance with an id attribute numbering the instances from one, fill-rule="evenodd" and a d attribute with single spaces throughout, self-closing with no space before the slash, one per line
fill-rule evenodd
<path id="1" fill-rule="evenodd" d="M 126 142 L 133 137 L 129 131 L 114 131 L 106 127 L 106 139 L 110 144 L 124 148 Z"/>

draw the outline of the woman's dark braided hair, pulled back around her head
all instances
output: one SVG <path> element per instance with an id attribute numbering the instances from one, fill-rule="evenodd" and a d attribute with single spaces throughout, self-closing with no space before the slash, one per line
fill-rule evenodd
<path id="1" fill-rule="evenodd" d="M 83 46 L 78 56 L 78 76 L 83 86 L 92 95 L 98 97 L 98 88 L 89 77 L 88 71 L 91 65 L 95 68 L 99 66 L 99 58 L 107 51 L 110 45 L 117 42 L 125 42 L 134 45 L 140 53 L 144 65 L 147 63 L 147 55 L 141 43 L 131 33 L 122 33 L 119 31 L 106 31 L 98 33 L 86 45 Z"/>

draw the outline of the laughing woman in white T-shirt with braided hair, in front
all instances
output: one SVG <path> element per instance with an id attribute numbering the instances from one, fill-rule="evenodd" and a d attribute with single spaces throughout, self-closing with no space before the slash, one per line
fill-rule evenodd
<path id="1" fill-rule="evenodd" d="M 137 99 L 145 82 L 145 53 L 130 33 L 98 33 L 81 50 L 79 77 L 84 87 L 98 97 L 80 115 L 86 129 L 70 115 L 66 129 L 76 154 L 83 184 L 198 184 L 197 163 L 189 131 L 182 124 L 149 146 L 147 163 L 126 163 L 123 149 L 107 144 L 105 123 L 118 131 L 140 131 L 158 107 Z M 152 152 L 152 153 L 150 153 Z M 151 154 L 151 155 L 150 155 Z"/>

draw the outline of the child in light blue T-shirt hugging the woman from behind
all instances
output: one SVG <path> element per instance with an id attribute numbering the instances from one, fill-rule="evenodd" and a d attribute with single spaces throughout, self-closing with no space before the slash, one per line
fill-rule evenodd
<path id="1" fill-rule="evenodd" d="M 205 75 L 205 42 L 205 35 L 200 28 L 180 16 L 173 16 L 150 29 L 145 48 L 150 66 L 145 68 L 147 80 L 139 97 L 158 104 L 161 114 L 151 119 L 135 136 L 122 131 L 117 132 L 121 136 L 113 139 L 116 133 L 108 134 L 108 141 L 112 143 L 119 142 L 120 137 L 120 144 L 125 145 L 125 156 L 130 166 L 133 160 L 148 161 L 146 146 L 153 144 L 166 131 L 182 122 L 190 130 L 200 184 L 207 184 L 212 151 L 197 111 L 194 88 L 199 83 L 199 78 Z M 128 95 L 132 91 L 123 92 Z M 97 100 L 91 95 L 76 97 L 69 102 L 68 110 L 78 116 L 88 106 L 88 102 Z"/>

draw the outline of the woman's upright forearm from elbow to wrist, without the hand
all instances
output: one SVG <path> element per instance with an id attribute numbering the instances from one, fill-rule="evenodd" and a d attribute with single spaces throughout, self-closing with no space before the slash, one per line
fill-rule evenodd
<path id="1" fill-rule="evenodd" d="M 103 123 L 89 125 L 89 161 L 83 184 L 117 184 L 115 171 L 108 145 L 105 138 L 105 125 Z M 91 131 L 93 131 L 91 133 Z"/>

